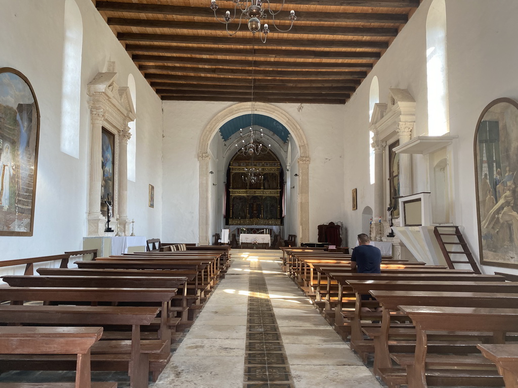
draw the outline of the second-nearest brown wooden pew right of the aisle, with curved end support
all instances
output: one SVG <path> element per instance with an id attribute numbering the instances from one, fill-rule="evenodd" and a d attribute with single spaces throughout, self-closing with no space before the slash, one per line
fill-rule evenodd
<path id="1" fill-rule="evenodd" d="M 399 306 L 407 314 L 416 327 L 416 347 L 413 362 L 407 364 L 407 378 L 409 386 L 426 388 L 427 385 L 427 331 L 477 331 L 490 332 L 494 335 L 495 343 L 505 341 L 507 332 L 516 331 L 518 327 L 518 309 L 516 308 L 479 308 L 479 307 L 431 307 L 431 306 Z M 396 360 L 397 361 L 397 360 Z M 402 362 L 402 360 L 399 360 Z M 451 370 L 444 371 L 444 375 L 451 376 L 457 385 L 489 385 L 495 380 L 494 374 L 488 371 L 486 379 L 481 378 L 478 370 L 471 370 L 474 379 L 464 376 L 458 379 Z M 465 371 L 469 376 L 470 371 Z M 501 377 L 496 374 L 499 379 Z M 438 376 L 437 372 L 435 376 Z M 455 381 L 456 380 L 456 381 Z M 444 381 L 444 378 L 442 379 Z M 430 381 L 430 385 L 433 382 Z M 500 382 L 501 384 L 501 382 Z M 491 384 L 493 385 L 493 384 Z"/>

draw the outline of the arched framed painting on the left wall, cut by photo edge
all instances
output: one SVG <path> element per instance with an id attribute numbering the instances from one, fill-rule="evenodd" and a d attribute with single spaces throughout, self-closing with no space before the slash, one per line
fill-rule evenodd
<path id="1" fill-rule="evenodd" d="M 0 68 L 0 236 L 32 236 L 39 108 L 28 79 Z"/>

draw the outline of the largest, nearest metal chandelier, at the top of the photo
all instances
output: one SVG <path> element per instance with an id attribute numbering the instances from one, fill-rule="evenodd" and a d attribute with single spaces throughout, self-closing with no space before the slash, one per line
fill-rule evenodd
<path id="1" fill-rule="evenodd" d="M 283 30 L 283 29 L 280 29 L 279 27 L 277 27 L 277 25 L 275 24 L 275 16 L 284 7 L 284 0 L 282 0 L 281 8 L 277 12 L 274 12 L 270 9 L 269 0 L 265 0 L 265 2 L 264 2 L 265 4 L 267 4 L 266 7 L 263 6 L 263 2 L 261 0 L 245 0 L 245 1 L 233 0 L 233 2 L 235 4 L 233 16 L 231 16 L 230 11 L 226 11 L 225 16 L 223 17 L 223 20 L 221 20 L 220 18 L 218 18 L 218 15 L 216 14 L 216 11 L 219 8 L 218 4 L 216 4 L 216 0 L 210 0 L 210 9 L 212 9 L 214 11 L 214 17 L 220 23 L 225 24 L 227 34 L 231 35 L 231 36 L 235 35 L 239 31 L 239 28 L 241 27 L 241 22 L 242 22 L 243 18 L 245 18 L 245 20 L 248 19 L 248 22 L 247 22 L 248 28 L 250 29 L 252 34 L 255 34 L 258 31 L 259 34 L 261 35 L 261 40 L 263 41 L 263 43 L 266 43 L 266 37 L 269 34 L 270 29 L 268 28 L 267 23 L 265 23 L 263 26 L 263 29 L 261 29 L 261 20 L 260 19 L 266 19 L 267 17 L 271 16 L 271 20 L 272 20 L 274 27 L 277 29 L 277 31 L 280 31 L 280 32 L 290 31 L 290 29 L 292 29 L 292 27 L 293 27 L 293 22 L 297 19 L 297 17 L 295 16 L 295 11 L 292 9 L 290 11 L 290 16 L 288 17 L 288 20 L 291 21 L 290 28 Z M 241 11 L 241 13 L 239 13 L 239 11 Z M 228 31 L 228 24 L 231 23 L 232 21 L 236 20 L 238 17 L 239 17 L 239 24 L 236 28 L 236 31 L 234 31 L 234 32 Z"/>

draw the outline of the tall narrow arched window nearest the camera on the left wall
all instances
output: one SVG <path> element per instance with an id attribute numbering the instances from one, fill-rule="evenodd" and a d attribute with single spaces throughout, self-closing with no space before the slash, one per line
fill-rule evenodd
<path id="1" fill-rule="evenodd" d="M 61 86 L 61 151 L 79 158 L 83 22 L 75 0 L 65 1 L 64 36 L 63 83 Z"/>

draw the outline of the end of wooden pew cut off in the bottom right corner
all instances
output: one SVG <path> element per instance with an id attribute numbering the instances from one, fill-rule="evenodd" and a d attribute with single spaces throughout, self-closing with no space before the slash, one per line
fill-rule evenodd
<path id="1" fill-rule="evenodd" d="M 477 345 L 486 359 L 496 364 L 506 388 L 518 388 L 518 345 Z"/>

